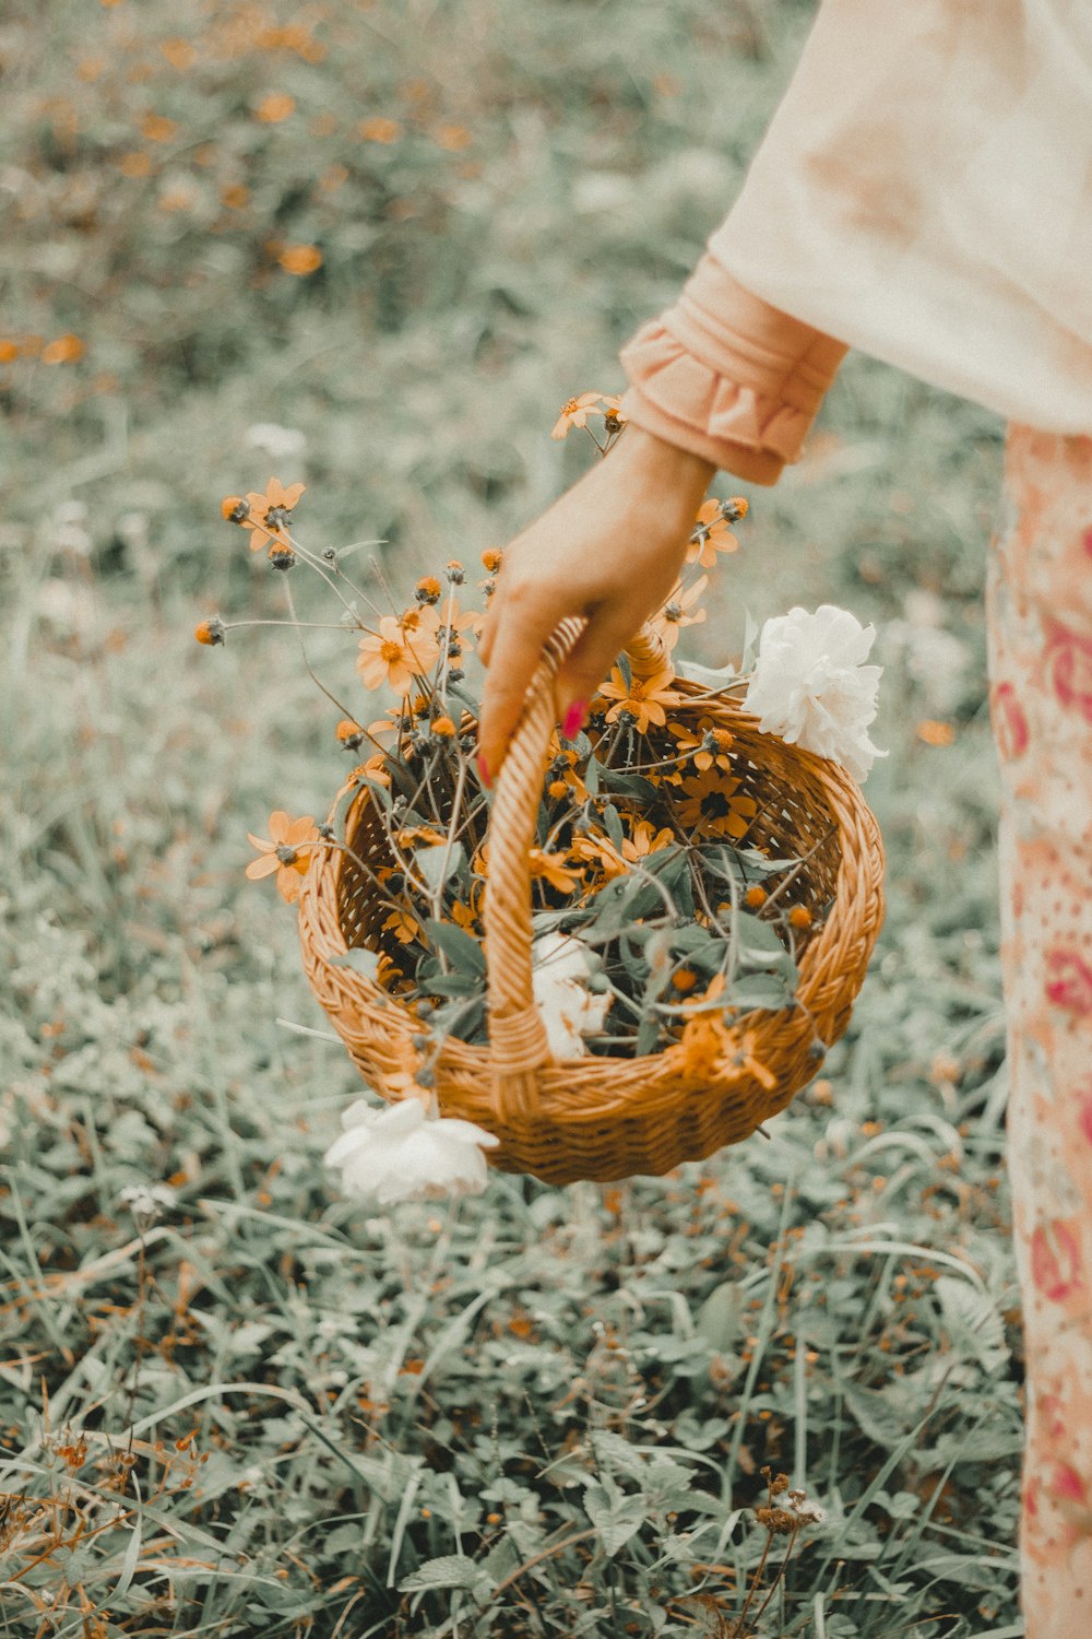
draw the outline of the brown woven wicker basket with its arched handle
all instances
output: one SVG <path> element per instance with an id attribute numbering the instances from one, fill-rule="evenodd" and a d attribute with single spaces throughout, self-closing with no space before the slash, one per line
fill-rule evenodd
<path id="1" fill-rule="evenodd" d="M 727 695 L 676 679 L 684 703 L 675 715 L 711 716 L 733 736 L 732 775 L 760 808 L 748 846 L 771 857 L 809 856 L 794 900 L 812 911 L 833 900 L 822 928 L 796 942 L 796 1006 L 755 1010 L 733 1023 L 740 1037 L 755 1033 L 755 1057 L 778 1085 L 768 1092 L 750 1072 L 697 1078 L 684 1070 L 679 1046 L 645 1057 L 553 1060 L 530 988 L 529 849 L 558 721 L 553 680 L 581 629 L 583 621 L 566 620 L 547 646 L 496 783 L 485 903 L 490 1044 L 450 1037 L 435 1064 L 440 1115 L 494 1133 L 501 1142 L 486 1149 L 493 1167 L 545 1183 L 661 1177 L 755 1133 L 817 1074 L 825 1049 L 843 1034 L 884 915 L 879 828 L 846 770 L 761 733 Z M 663 664 L 648 631 L 627 652 L 637 677 Z M 367 787 L 350 803 L 345 841 L 360 859 L 388 862 Z M 404 1069 L 421 1024 L 380 985 L 332 959 L 375 944 L 383 915 L 349 854 L 331 849 L 314 859 L 300 893 L 305 972 L 365 1082 L 381 1093 L 383 1078 Z"/>

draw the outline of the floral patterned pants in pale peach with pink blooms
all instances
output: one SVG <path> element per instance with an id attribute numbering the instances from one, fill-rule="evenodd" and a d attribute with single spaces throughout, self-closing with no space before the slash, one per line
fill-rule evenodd
<path id="1" fill-rule="evenodd" d="M 1027 1639 L 1092 1636 L 1092 438 L 1009 426 L 986 582 Z"/>

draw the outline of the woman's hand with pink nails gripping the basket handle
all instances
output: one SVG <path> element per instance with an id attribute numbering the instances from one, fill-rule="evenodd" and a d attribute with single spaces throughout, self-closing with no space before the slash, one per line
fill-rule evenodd
<path id="1" fill-rule="evenodd" d="M 480 767 L 496 779 L 542 647 L 566 615 L 588 626 L 557 682 L 566 738 L 686 559 L 694 515 L 717 469 L 632 423 L 609 456 L 504 547 L 478 652 L 488 667 Z"/>

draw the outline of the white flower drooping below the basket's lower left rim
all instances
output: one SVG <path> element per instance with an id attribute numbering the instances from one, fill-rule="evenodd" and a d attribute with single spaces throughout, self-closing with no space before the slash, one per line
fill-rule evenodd
<path id="1" fill-rule="evenodd" d="M 381 1206 L 481 1195 L 490 1180 L 481 1146 L 501 1142 L 473 1121 L 429 1116 L 416 1093 L 381 1108 L 357 1098 L 341 1124 L 345 1131 L 323 1160 L 342 1169 L 349 1195 L 368 1196 Z"/>

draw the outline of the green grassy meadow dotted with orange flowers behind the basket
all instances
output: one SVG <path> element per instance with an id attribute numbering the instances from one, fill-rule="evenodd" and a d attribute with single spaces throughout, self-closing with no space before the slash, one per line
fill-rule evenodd
<path id="1" fill-rule="evenodd" d="M 219 518 L 270 472 L 399 587 L 542 510 L 586 461 L 557 406 L 624 385 L 809 20 L 8 10 L 5 1634 L 1020 1631 L 1000 423 L 855 356 L 809 459 L 748 490 L 689 652 L 727 659 L 745 608 L 876 621 L 889 911 L 771 1139 L 668 1178 L 381 1218 L 332 1193 L 357 1083 L 242 867 L 272 808 L 326 813 L 334 716 L 283 634 L 190 636 L 280 613 Z M 311 652 L 352 685 L 336 634 Z M 824 1523 L 763 1524 L 765 1467 Z"/>

